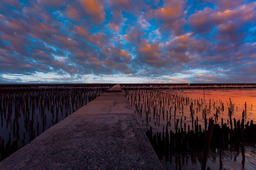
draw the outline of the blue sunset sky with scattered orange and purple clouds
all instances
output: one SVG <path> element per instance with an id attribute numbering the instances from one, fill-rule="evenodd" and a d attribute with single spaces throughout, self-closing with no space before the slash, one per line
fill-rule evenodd
<path id="1" fill-rule="evenodd" d="M 0 83 L 256 83 L 256 2 L 0 0 Z"/>

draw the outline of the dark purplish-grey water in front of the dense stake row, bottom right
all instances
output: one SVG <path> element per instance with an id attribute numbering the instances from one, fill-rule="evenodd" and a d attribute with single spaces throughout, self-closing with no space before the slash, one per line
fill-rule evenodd
<path id="1" fill-rule="evenodd" d="M 181 165 L 182 170 L 200 170 L 201 158 L 200 152 L 172 155 L 158 155 L 160 162 L 165 170 L 178 170 Z M 180 157 L 180 158 L 179 158 Z M 181 164 L 179 164 L 179 159 Z M 256 148 L 245 147 L 245 166 L 242 165 L 241 151 L 222 150 L 222 169 L 226 170 L 255 170 L 256 169 Z M 220 169 L 220 150 L 210 151 L 207 165 L 212 170 Z"/>

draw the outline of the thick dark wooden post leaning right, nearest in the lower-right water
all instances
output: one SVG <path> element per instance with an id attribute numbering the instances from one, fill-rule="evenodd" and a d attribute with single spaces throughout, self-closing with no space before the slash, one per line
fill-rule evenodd
<path id="1" fill-rule="evenodd" d="M 208 130 L 207 130 L 206 141 L 205 141 L 204 155 L 203 155 L 203 162 L 202 162 L 201 170 L 205 170 L 205 168 L 206 168 L 206 162 L 207 162 L 207 157 L 208 157 L 208 151 L 210 148 L 212 130 L 213 130 L 213 119 L 209 119 L 209 125 L 208 125 Z"/>

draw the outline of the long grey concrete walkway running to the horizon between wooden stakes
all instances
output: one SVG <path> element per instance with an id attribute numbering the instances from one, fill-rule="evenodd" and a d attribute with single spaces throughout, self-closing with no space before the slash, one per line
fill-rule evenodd
<path id="1" fill-rule="evenodd" d="M 52 126 L 0 170 L 163 169 L 119 85 Z"/>

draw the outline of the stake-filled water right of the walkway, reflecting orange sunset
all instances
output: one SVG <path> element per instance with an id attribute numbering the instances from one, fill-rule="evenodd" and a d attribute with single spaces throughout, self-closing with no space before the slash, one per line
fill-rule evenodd
<path id="1" fill-rule="evenodd" d="M 164 159 L 162 164 L 165 169 L 191 169 L 190 164 L 179 166 L 183 165 L 182 160 L 186 160 L 187 153 L 190 153 L 191 164 L 195 165 L 192 167 L 201 168 L 209 119 L 215 122 L 211 151 L 220 153 L 222 150 L 222 154 L 209 157 L 207 166 L 211 169 L 219 169 L 220 165 L 222 169 L 229 169 L 229 166 L 232 169 L 255 169 L 249 161 L 256 162 L 253 155 L 256 144 L 256 89 L 252 87 L 255 85 L 225 85 L 224 88 L 125 85 L 122 88 L 159 159 Z M 253 152 L 246 150 L 249 146 L 252 146 Z M 236 164 L 226 161 L 232 152 L 238 153 L 233 157 L 239 160 Z M 248 153 L 251 156 L 247 157 Z M 161 157 L 166 154 L 171 157 Z M 170 164 L 173 160 L 175 166 L 168 166 L 168 162 Z"/>

